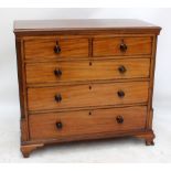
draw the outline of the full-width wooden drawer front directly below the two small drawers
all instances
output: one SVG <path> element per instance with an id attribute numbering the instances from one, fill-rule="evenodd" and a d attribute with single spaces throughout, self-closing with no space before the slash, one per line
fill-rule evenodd
<path id="1" fill-rule="evenodd" d="M 26 64 L 26 83 L 149 77 L 149 58 Z"/>

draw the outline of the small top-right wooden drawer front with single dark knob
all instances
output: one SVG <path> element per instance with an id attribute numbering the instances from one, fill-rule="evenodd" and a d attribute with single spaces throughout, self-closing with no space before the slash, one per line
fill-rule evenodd
<path id="1" fill-rule="evenodd" d="M 94 56 L 151 54 L 151 38 L 97 38 L 93 41 Z"/>

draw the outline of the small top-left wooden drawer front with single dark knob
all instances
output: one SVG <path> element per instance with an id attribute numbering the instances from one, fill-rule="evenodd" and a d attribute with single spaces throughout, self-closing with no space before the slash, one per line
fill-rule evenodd
<path id="1" fill-rule="evenodd" d="M 88 39 L 38 39 L 24 42 L 26 60 L 88 56 Z"/>

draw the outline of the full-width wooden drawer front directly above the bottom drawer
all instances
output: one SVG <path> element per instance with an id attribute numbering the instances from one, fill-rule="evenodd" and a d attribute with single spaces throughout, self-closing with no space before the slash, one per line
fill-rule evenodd
<path id="1" fill-rule="evenodd" d="M 29 88 L 29 110 L 146 103 L 148 82 Z"/>

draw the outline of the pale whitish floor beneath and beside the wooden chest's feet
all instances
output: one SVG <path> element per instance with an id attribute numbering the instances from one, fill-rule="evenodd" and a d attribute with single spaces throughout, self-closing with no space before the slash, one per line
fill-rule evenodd
<path id="1" fill-rule="evenodd" d="M 170 107 L 154 108 L 154 146 L 133 138 L 65 143 L 36 150 L 29 159 L 20 153 L 19 120 L 18 106 L 1 107 L 0 162 L 171 162 Z"/>

